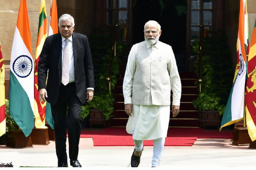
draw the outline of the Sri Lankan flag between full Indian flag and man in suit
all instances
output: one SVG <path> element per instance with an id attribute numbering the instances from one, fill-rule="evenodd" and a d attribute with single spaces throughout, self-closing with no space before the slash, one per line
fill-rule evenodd
<path id="1" fill-rule="evenodd" d="M 40 12 L 39 12 L 39 24 L 38 24 L 38 34 L 36 42 L 36 66 L 34 71 L 34 114 L 35 114 L 35 127 L 36 128 L 47 128 L 45 126 L 45 111 L 46 102 L 39 101 L 39 91 L 38 91 L 38 76 L 37 76 L 37 66 L 39 62 L 40 53 L 42 51 L 45 39 L 47 37 L 47 14 L 45 0 L 41 0 Z"/>

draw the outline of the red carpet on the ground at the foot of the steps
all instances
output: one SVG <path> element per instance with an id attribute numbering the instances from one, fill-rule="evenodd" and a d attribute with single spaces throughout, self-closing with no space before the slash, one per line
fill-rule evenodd
<path id="1" fill-rule="evenodd" d="M 81 138 L 91 137 L 94 146 L 134 146 L 132 135 L 125 127 L 108 127 L 100 131 L 82 130 Z M 232 139 L 233 132 L 207 131 L 201 128 L 169 128 L 164 146 L 192 146 L 197 138 Z M 153 146 L 153 140 L 144 140 Z"/>

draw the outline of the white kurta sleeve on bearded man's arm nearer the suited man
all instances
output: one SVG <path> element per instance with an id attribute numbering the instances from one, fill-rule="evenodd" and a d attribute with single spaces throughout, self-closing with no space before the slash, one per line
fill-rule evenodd
<path id="1" fill-rule="evenodd" d="M 134 72 L 136 69 L 135 64 L 135 53 L 134 53 L 134 46 L 130 50 L 130 54 L 128 56 L 126 71 L 123 81 L 123 94 L 124 94 L 124 103 L 132 103 L 131 95 L 132 95 L 132 83 Z"/>

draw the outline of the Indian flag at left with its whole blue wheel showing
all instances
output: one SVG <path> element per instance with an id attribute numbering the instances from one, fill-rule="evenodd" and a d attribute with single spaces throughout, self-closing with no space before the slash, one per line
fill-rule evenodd
<path id="1" fill-rule="evenodd" d="M 20 0 L 10 61 L 9 112 L 27 137 L 34 128 L 34 61 L 26 0 Z"/>

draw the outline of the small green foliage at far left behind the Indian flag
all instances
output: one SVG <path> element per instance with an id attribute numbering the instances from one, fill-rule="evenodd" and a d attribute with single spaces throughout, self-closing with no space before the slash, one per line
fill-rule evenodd
<path id="1" fill-rule="evenodd" d="M 12 119 L 9 113 L 9 100 L 5 99 L 6 132 L 20 131 L 17 123 Z"/>

